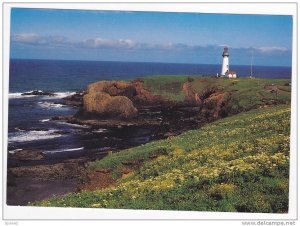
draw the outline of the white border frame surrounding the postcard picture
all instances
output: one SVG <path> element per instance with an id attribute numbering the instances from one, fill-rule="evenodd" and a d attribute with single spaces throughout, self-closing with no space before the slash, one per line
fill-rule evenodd
<path id="1" fill-rule="evenodd" d="M 292 115 L 291 115 L 291 154 L 290 154 L 290 199 L 288 214 L 197 212 L 197 211 L 157 211 L 120 210 L 88 208 L 48 208 L 21 207 L 6 205 L 6 167 L 7 167 L 7 123 L 8 123 L 8 74 L 10 44 L 10 9 L 52 8 L 85 10 L 124 10 L 194 13 L 233 13 L 233 14 L 272 14 L 293 16 L 293 54 L 292 54 Z M 298 62 L 298 4 L 290 3 L 4 3 L 3 4 L 3 219 L 211 219 L 211 220 L 297 220 L 298 219 L 298 168 L 297 168 L 297 62 Z"/>

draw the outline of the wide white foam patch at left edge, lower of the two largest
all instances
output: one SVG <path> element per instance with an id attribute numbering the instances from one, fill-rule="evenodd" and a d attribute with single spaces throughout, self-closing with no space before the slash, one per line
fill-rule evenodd
<path id="1" fill-rule="evenodd" d="M 61 134 L 57 134 L 58 130 L 48 131 L 20 131 L 8 135 L 8 143 L 12 142 L 26 142 L 33 140 L 47 140 L 61 137 Z"/>

